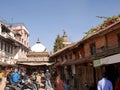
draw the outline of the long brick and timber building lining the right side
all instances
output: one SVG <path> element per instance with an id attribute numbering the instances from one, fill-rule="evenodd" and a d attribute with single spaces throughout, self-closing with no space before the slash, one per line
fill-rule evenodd
<path id="1" fill-rule="evenodd" d="M 62 79 L 70 81 L 71 90 L 97 90 L 102 73 L 115 81 L 120 78 L 120 17 L 105 21 L 82 40 L 50 56 Z M 64 72 L 64 73 L 63 73 Z"/>

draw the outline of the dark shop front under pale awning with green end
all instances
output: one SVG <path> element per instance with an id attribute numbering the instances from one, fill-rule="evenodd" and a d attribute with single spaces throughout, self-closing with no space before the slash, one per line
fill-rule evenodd
<path id="1" fill-rule="evenodd" d="M 117 78 L 120 78 L 120 54 L 94 60 L 93 65 L 96 73 L 96 83 L 102 78 L 102 73 L 106 72 L 108 79 L 115 87 Z"/>

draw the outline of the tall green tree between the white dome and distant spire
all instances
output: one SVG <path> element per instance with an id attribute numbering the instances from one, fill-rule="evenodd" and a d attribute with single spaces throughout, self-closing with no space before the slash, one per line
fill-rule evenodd
<path id="1" fill-rule="evenodd" d="M 54 42 L 54 52 L 58 51 L 59 49 L 64 48 L 64 44 L 63 44 L 63 38 L 60 37 L 60 35 L 57 35 L 57 38 Z"/>

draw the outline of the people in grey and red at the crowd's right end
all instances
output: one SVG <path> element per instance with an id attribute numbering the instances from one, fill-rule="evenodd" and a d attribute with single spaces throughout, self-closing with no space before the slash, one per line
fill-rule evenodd
<path id="1" fill-rule="evenodd" d="M 70 90 L 68 80 L 63 81 L 60 77 L 60 74 L 56 72 L 52 73 L 52 78 L 54 78 L 54 82 L 51 83 L 51 73 L 49 70 L 46 70 L 45 73 L 45 88 L 46 90 L 51 90 L 54 88 L 55 90 Z"/>

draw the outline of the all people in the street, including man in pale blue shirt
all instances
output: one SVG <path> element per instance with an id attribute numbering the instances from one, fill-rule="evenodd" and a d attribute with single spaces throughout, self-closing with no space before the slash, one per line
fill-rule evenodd
<path id="1" fill-rule="evenodd" d="M 42 84 L 45 90 L 53 90 L 53 88 L 54 90 L 70 90 L 69 80 L 62 80 L 60 74 L 51 72 L 48 69 L 46 69 L 44 73 L 37 71 L 26 73 L 25 70 L 14 68 L 11 69 L 7 75 L 4 75 L 3 71 L 0 70 L 0 84 L 4 76 L 7 80 L 6 85 L 19 85 L 25 83 L 25 80 L 28 80 L 30 85 L 23 85 L 20 90 L 24 90 L 26 87 L 35 87 L 36 89 L 31 90 L 38 90 L 42 87 Z M 120 90 L 120 78 L 118 77 L 116 79 L 115 85 L 113 86 L 113 83 L 107 78 L 107 74 L 103 73 L 103 78 L 97 83 L 97 90 Z"/>

